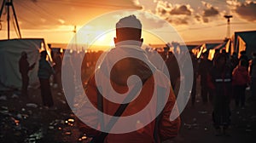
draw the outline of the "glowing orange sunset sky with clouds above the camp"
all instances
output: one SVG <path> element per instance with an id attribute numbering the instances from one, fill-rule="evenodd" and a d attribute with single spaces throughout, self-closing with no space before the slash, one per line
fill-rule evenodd
<path id="1" fill-rule="evenodd" d="M 230 21 L 231 34 L 234 31 L 256 30 L 256 0 L 13 0 L 13 2 L 21 36 L 44 37 L 48 43 L 68 43 L 74 35 L 73 26 L 79 29 L 102 14 L 115 10 L 125 11 L 125 9 L 137 9 L 153 14 L 154 17 L 150 14 L 140 14 L 138 18 L 142 20 L 144 28 L 151 29 L 160 37 L 166 37 L 168 32 L 173 32 L 163 22 L 166 20 L 184 41 L 224 39 L 227 29 L 224 14 L 233 15 Z M 114 28 L 114 23 L 122 15 L 128 14 L 124 12 L 113 15 L 111 19 L 102 19 L 97 23 L 100 30 L 97 27 L 87 26 L 88 31 L 90 34 L 92 32 L 97 34 L 104 32 L 102 27 Z M 3 9 L 1 39 L 7 38 L 6 15 L 6 9 Z M 16 38 L 12 13 L 11 20 L 11 29 L 14 31 L 11 38 Z M 89 39 L 90 34 L 85 34 L 82 39 L 87 37 Z M 177 39 L 170 37 L 169 41 L 177 41 Z"/>

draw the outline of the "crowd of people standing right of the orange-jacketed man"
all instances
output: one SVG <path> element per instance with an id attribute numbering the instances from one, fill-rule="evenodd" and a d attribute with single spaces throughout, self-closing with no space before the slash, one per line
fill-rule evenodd
<path id="1" fill-rule="evenodd" d="M 199 77 L 201 87 L 201 102 L 212 105 L 212 121 L 217 131 L 216 135 L 227 134 L 230 125 L 230 102 L 235 100 L 236 108 L 246 107 L 246 89 L 251 89 L 251 100 L 255 100 L 255 53 L 253 59 L 249 60 L 246 51 L 241 51 L 238 58 L 236 53 L 231 56 L 224 50 L 216 50 L 212 60 L 208 59 L 208 52 L 202 53 L 201 58 L 195 58 L 192 52 L 191 61 L 194 71 L 194 83 L 190 91 L 192 106 L 195 105 L 196 80 Z M 172 87 L 176 89 L 178 79 L 177 61 L 169 60 L 167 57 L 166 66 L 171 75 Z M 173 62 L 175 64 L 173 64 Z M 174 74 L 173 74 L 174 73 Z M 176 75 L 176 77 L 172 77 Z M 183 74 L 185 76 L 185 74 Z M 183 78 L 186 82 L 186 77 Z M 176 82 L 175 82 L 176 81 Z M 221 129 L 222 127 L 222 129 Z"/>

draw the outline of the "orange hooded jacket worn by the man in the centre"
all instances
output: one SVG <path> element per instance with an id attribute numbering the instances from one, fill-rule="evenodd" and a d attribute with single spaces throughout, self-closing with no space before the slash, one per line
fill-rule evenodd
<path id="1" fill-rule="evenodd" d="M 108 64 L 105 64 L 108 65 Z M 101 67 L 102 68 L 102 67 Z M 113 66 L 113 69 L 111 70 L 110 74 L 110 84 L 113 89 L 119 93 L 119 94 L 125 94 L 128 91 L 128 87 L 126 84 L 127 77 L 130 77 L 130 75 L 137 74 L 138 77 L 141 77 L 142 81 L 145 83 L 143 84 L 143 88 L 140 91 L 140 93 L 136 96 L 134 100 L 131 100 L 129 106 L 125 109 L 125 112 L 121 115 L 121 117 L 128 117 L 131 115 L 135 115 L 139 112 L 141 112 L 149 103 L 150 100 L 154 98 L 154 91 L 156 91 L 156 87 L 154 86 L 154 83 L 158 83 L 160 87 L 162 88 L 169 88 L 170 90 L 167 90 L 169 92 L 166 92 L 164 94 L 157 94 L 163 97 L 166 97 L 166 105 L 164 106 L 163 111 L 161 112 L 160 121 L 157 124 L 158 127 L 158 140 L 169 140 L 173 137 L 177 136 L 178 130 L 180 128 L 180 118 L 177 117 L 174 121 L 170 121 L 170 115 L 172 112 L 172 109 L 175 105 L 175 95 L 172 91 L 172 86 L 169 81 L 169 79 L 160 71 L 156 70 L 153 73 L 148 72 L 148 67 L 144 66 L 142 62 L 138 60 L 122 60 L 121 62 L 117 63 L 115 66 Z M 119 74 L 120 73 L 120 74 Z M 95 75 L 99 77 L 95 77 Z M 154 79 L 154 77 L 157 77 L 157 79 Z M 96 82 L 96 80 L 98 80 Z M 93 104 L 93 106 L 97 106 L 97 87 L 99 87 L 99 84 L 107 84 L 106 81 L 109 81 L 106 74 L 102 72 L 102 70 L 97 70 L 96 73 L 90 77 L 90 80 L 87 84 L 87 87 L 85 89 L 85 94 L 87 95 L 88 99 L 90 100 L 90 103 Z M 156 82 L 157 81 L 157 82 Z M 97 84 L 96 84 L 97 83 Z M 133 84 L 134 85 L 134 84 Z M 132 85 L 131 85 L 132 86 Z M 111 93 L 109 89 L 102 89 L 102 94 L 111 96 Z M 103 112 L 113 116 L 114 112 L 117 111 L 119 108 L 118 103 L 114 103 L 113 101 L 107 100 L 106 98 L 103 98 Z M 88 101 L 87 101 L 88 103 Z M 93 125 L 94 127 L 100 128 L 100 119 L 98 117 L 98 111 L 96 109 L 92 109 L 88 107 L 88 104 L 85 103 L 82 105 L 81 109 L 86 109 L 86 111 L 79 110 L 80 116 L 79 116 L 79 129 L 84 130 L 85 134 L 88 134 L 89 136 L 97 136 L 100 132 L 97 129 L 92 129 L 90 126 L 86 123 L 90 123 L 90 125 Z M 154 142 L 154 128 L 155 128 L 155 112 L 156 112 L 156 100 L 153 100 L 154 106 L 149 106 L 147 110 L 145 110 L 146 114 L 143 114 L 143 117 L 141 118 L 153 118 L 152 122 L 143 123 L 143 121 L 138 116 L 137 123 L 129 123 L 125 124 L 124 127 L 119 128 L 130 128 L 130 127 L 137 127 L 136 131 L 132 131 L 129 133 L 123 133 L 123 134 L 113 134 L 109 133 L 108 136 L 105 138 L 105 142 Z M 86 108 L 87 107 L 87 108 Z M 178 113 L 177 108 L 174 110 L 175 113 Z M 105 125 L 108 123 L 109 118 L 103 117 Z M 120 118 L 119 118 L 120 119 Z M 81 121 L 86 120 L 86 123 L 83 123 Z M 119 122 L 119 120 L 118 120 Z M 144 126 L 144 127 L 143 127 Z M 143 128 L 142 128 L 143 127 Z"/>

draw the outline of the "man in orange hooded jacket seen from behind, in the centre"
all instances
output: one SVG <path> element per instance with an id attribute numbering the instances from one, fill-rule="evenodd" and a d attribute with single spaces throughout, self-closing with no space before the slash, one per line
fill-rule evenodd
<path id="1" fill-rule="evenodd" d="M 99 97 L 97 87 L 102 87 L 102 94 L 105 96 L 114 96 L 114 94 L 111 94 L 109 89 L 106 87 L 106 84 L 108 84 L 104 80 L 106 78 L 111 81 L 110 86 L 113 86 L 113 89 L 118 91 L 120 94 L 124 94 L 125 97 L 129 96 L 130 93 L 133 93 L 128 90 L 128 77 L 131 75 L 137 75 L 140 77 L 143 83 L 141 92 L 137 95 L 135 100 L 131 100 L 129 106 L 127 106 L 125 111 L 121 114 L 122 117 L 131 116 L 134 113 L 141 112 L 141 110 L 143 110 L 143 108 L 148 105 L 148 101 L 153 98 L 152 95 L 154 93 L 154 84 L 158 84 L 158 86 L 161 88 L 172 88 L 169 79 L 164 75 L 164 73 L 156 70 L 156 68 L 149 62 L 145 51 L 141 49 L 143 43 L 141 33 L 142 24 L 134 15 L 125 17 L 119 20 L 119 22 L 116 24 L 116 37 L 114 38 L 115 48 L 111 49 L 108 54 L 106 54 L 106 57 L 104 57 L 104 60 L 102 61 L 102 65 L 98 70 L 96 70 L 96 73 L 99 73 L 98 76 L 100 77 L 100 83 L 96 84 L 97 78 L 96 74 L 94 74 L 92 77 L 90 77 L 90 81 L 88 82 L 87 88 L 85 89 L 86 95 L 90 99 L 91 103 L 94 104 L 94 106 L 97 106 L 100 101 L 97 100 Z M 142 61 L 138 60 L 137 58 L 129 57 L 135 54 L 144 60 Z M 124 58 L 125 55 L 128 57 Z M 117 59 L 119 60 L 114 64 L 113 62 Z M 114 65 L 110 69 L 109 65 L 112 64 Z M 154 70 L 150 70 L 151 68 L 149 67 L 153 68 Z M 106 73 L 110 73 L 110 75 L 108 76 Z M 160 75 L 160 78 L 154 79 L 157 74 Z M 160 80 L 160 83 L 155 83 L 156 80 Z M 137 87 L 137 82 L 138 81 L 134 80 L 134 82 L 131 83 L 131 90 L 134 88 L 139 88 Z M 126 92 L 128 95 L 125 94 Z M 158 92 L 160 92 L 160 90 L 158 90 Z M 168 97 L 167 103 L 162 111 L 161 116 L 159 117 L 159 123 L 154 117 L 157 110 L 155 103 L 154 106 L 149 106 L 149 109 L 145 111 L 143 116 L 137 117 L 136 120 L 132 120 L 131 123 L 127 124 L 126 126 L 139 127 L 143 125 L 142 128 L 122 134 L 109 133 L 105 140 L 102 140 L 102 142 L 160 142 L 165 140 L 172 140 L 173 137 L 177 136 L 180 127 L 180 118 L 177 117 L 174 121 L 170 121 L 169 118 L 172 112 L 172 108 L 174 107 L 175 95 L 172 91 L 170 91 L 170 93 L 164 92 L 163 94 L 158 94 L 157 96 L 159 95 L 163 98 L 166 96 Z M 84 104 L 84 107 L 86 107 L 86 105 L 87 103 Z M 113 103 L 105 98 L 102 99 L 101 105 L 102 111 L 111 116 L 113 116 L 114 112 L 116 112 L 120 106 L 119 103 Z M 95 127 L 99 125 L 98 121 L 101 121 L 101 119 L 104 120 L 104 117 L 98 117 L 97 112 L 92 108 L 89 108 L 88 111 L 83 112 L 85 119 L 91 117 L 90 123 L 96 125 Z M 176 112 L 178 111 L 176 110 Z M 142 121 L 142 118 L 143 120 L 149 120 L 151 117 L 154 117 L 153 121 L 148 121 L 149 123 L 147 124 L 140 122 Z M 108 123 L 108 120 L 104 120 L 104 122 Z M 103 124 L 103 127 L 105 126 L 106 124 Z M 88 134 L 88 136 L 92 136 L 94 139 L 98 138 L 97 134 L 99 134 L 99 131 L 96 129 L 91 129 L 90 126 L 86 124 L 80 124 L 79 127 L 81 130 L 84 130 L 85 134 Z M 154 129 L 156 129 L 155 132 Z"/>

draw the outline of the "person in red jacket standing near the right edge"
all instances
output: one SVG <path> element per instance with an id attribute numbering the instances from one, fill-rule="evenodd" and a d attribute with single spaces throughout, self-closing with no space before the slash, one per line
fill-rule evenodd
<path id="1" fill-rule="evenodd" d="M 232 73 L 236 107 L 238 107 L 239 104 L 241 104 L 242 108 L 245 106 L 245 90 L 250 83 L 250 77 L 246 66 L 247 61 L 240 60 L 239 66 L 237 66 Z"/>

